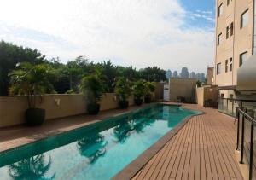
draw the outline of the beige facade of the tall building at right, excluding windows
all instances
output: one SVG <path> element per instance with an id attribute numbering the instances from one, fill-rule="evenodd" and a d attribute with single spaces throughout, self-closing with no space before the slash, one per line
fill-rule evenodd
<path id="1" fill-rule="evenodd" d="M 252 55 L 253 49 L 253 0 L 233 0 L 227 6 L 226 0 L 217 0 L 216 18 L 216 57 L 215 57 L 215 84 L 219 86 L 236 85 L 237 69 L 239 68 L 240 54 L 247 51 L 247 57 Z M 224 13 L 218 17 L 218 7 L 224 4 Z M 249 21 L 241 29 L 241 14 L 248 9 Z M 226 39 L 226 27 L 234 22 L 234 35 Z M 223 43 L 217 45 L 218 34 L 222 32 Z M 233 71 L 225 73 L 225 60 L 233 58 Z M 217 64 L 222 64 L 222 71 L 217 74 Z"/>

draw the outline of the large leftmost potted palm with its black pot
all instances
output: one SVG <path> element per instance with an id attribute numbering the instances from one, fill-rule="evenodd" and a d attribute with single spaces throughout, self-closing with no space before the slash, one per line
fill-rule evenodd
<path id="1" fill-rule="evenodd" d="M 45 109 L 38 108 L 42 95 L 53 92 L 49 82 L 50 68 L 46 64 L 22 62 L 17 69 L 9 73 L 10 94 L 27 96 L 28 109 L 25 118 L 27 125 L 42 125 L 45 119 Z"/>

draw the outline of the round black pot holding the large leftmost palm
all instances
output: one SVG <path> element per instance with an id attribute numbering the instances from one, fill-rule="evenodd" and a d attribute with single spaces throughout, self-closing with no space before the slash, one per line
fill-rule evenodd
<path id="1" fill-rule="evenodd" d="M 42 108 L 29 108 L 25 113 L 26 125 L 36 126 L 42 125 L 45 119 L 45 109 Z"/>

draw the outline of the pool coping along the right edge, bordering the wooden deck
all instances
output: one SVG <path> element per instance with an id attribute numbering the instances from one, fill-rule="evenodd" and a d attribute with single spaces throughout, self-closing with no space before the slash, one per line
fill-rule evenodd
<path id="1" fill-rule="evenodd" d="M 163 104 L 168 105 L 168 103 L 162 102 Z M 180 105 L 180 104 L 177 104 Z M 181 105 L 183 107 L 183 105 Z M 184 107 L 183 107 L 184 108 Z M 187 109 L 187 108 L 184 108 Z M 192 110 L 192 109 L 191 109 Z M 126 165 L 124 169 L 119 171 L 116 175 L 114 175 L 111 179 L 112 180 L 128 180 L 134 177 L 138 171 L 140 171 L 144 165 L 148 163 L 149 160 L 151 160 L 155 154 L 157 154 L 160 149 L 164 148 L 167 142 L 169 142 L 173 136 L 177 134 L 178 131 L 180 131 L 184 125 L 186 125 L 190 119 L 192 119 L 195 116 L 200 116 L 205 114 L 204 111 L 201 111 L 200 114 L 194 114 L 189 115 L 185 119 L 183 119 L 182 122 L 178 123 L 172 130 L 168 131 L 165 136 L 162 136 L 160 140 L 155 142 L 152 146 L 150 146 L 147 150 L 143 151 L 142 154 L 140 154 L 137 159 L 131 161 L 129 165 Z"/>

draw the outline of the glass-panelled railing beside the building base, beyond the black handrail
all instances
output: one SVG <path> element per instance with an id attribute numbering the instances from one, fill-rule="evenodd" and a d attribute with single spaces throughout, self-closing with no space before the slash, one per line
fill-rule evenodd
<path id="1" fill-rule="evenodd" d="M 218 111 L 236 117 L 236 107 L 255 106 L 256 100 L 219 98 Z"/>

